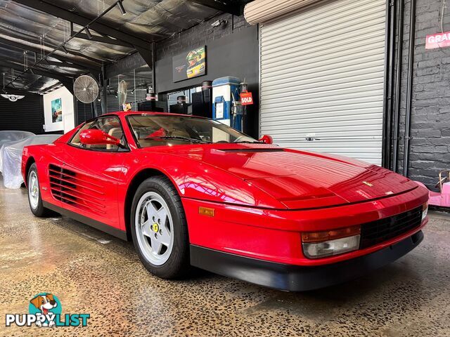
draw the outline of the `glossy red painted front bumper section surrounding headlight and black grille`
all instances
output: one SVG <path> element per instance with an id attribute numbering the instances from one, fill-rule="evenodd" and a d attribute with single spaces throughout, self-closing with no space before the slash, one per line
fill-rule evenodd
<path id="1" fill-rule="evenodd" d="M 302 232 L 319 232 L 371 223 L 423 205 L 428 192 L 417 188 L 408 193 L 358 204 L 309 210 L 257 209 L 233 204 L 182 198 L 188 221 L 189 240 L 194 246 L 285 265 L 311 267 L 366 256 L 401 242 L 426 225 L 364 249 L 326 258 L 307 258 L 302 251 Z M 213 216 L 200 214 L 199 207 L 214 209 Z"/>

